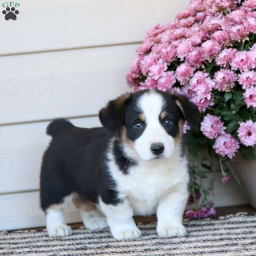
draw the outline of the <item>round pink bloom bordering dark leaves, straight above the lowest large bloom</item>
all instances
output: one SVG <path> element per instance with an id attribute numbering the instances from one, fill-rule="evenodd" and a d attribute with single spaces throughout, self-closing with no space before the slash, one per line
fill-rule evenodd
<path id="1" fill-rule="evenodd" d="M 235 72 L 228 69 L 221 69 L 214 75 L 215 86 L 214 89 L 218 91 L 230 91 L 235 86 L 237 77 Z"/>

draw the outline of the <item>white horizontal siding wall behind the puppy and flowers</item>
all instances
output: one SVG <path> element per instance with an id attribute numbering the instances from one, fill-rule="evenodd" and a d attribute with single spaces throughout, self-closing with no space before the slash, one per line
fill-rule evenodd
<path id="1" fill-rule="evenodd" d="M 125 74 L 145 32 L 189 1 L 18 2 L 17 20 L 0 17 L 0 230 L 44 225 L 38 189 L 49 121 L 100 125 L 99 109 L 128 90 Z M 218 206 L 246 203 L 234 182 L 217 186 Z M 73 206 L 65 217 L 80 221 Z"/>

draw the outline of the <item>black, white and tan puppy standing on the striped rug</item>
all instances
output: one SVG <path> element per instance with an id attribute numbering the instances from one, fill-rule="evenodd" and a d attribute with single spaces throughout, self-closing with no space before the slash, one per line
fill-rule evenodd
<path id="1" fill-rule="evenodd" d="M 72 199 L 87 229 L 109 227 L 117 240 L 141 235 L 134 215 L 155 213 L 160 237 L 184 236 L 189 173 L 182 126 L 186 119 L 194 128 L 199 117 L 185 96 L 144 90 L 110 101 L 99 112 L 101 128 L 51 122 L 40 191 L 49 236 L 71 234 L 63 210 Z"/>

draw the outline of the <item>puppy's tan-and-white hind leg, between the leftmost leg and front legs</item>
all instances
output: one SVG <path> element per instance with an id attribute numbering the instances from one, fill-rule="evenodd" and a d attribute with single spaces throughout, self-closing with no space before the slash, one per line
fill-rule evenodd
<path id="1" fill-rule="evenodd" d="M 108 227 L 105 216 L 100 212 L 96 205 L 90 201 L 83 200 L 79 195 L 73 194 L 73 203 L 78 209 L 84 227 L 89 230 L 96 230 Z"/>

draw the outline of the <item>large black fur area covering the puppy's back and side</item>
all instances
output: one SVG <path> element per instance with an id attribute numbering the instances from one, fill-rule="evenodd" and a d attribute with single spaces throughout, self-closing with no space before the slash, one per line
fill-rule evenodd
<path id="1" fill-rule="evenodd" d="M 115 204 L 115 182 L 107 171 L 105 159 L 111 134 L 105 128 L 67 125 L 64 119 L 53 121 L 50 127 L 55 132 L 51 133 L 54 136 L 41 166 L 42 209 L 61 203 L 72 192 L 94 203 L 101 196 L 106 203 Z"/>

